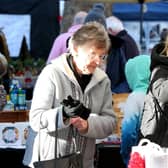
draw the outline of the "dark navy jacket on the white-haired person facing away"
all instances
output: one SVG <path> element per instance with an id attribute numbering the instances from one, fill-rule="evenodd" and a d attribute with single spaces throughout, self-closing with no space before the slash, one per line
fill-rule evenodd
<path id="1" fill-rule="evenodd" d="M 116 36 L 109 35 L 112 47 L 107 58 L 106 73 L 111 80 L 111 90 L 115 93 L 130 92 L 125 78 L 125 63 L 139 55 L 134 39 L 122 30 Z"/>

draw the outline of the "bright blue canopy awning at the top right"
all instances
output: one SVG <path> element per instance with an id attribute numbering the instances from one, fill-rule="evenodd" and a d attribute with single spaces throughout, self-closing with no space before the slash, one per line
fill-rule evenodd
<path id="1" fill-rule="evenodd" d="M 168 20 L 168 3 L 166 2 L 150 2 L 145 3 L 143 20 L 146 21 L 166 21 Z M 140 20 L 141 5 L 130 3 L 114 3 L 112 5 L 112 14 L 121 20 L 134 21 Z"/>

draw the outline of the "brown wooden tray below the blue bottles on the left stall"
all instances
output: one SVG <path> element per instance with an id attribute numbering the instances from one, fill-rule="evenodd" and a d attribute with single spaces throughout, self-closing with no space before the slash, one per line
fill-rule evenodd
<path id="1" fill-rule="evenodd" d="M 28 110 L 0 111 L 0 122 L 23 122 L 29 120 Z"/>

